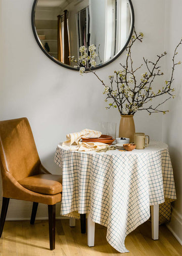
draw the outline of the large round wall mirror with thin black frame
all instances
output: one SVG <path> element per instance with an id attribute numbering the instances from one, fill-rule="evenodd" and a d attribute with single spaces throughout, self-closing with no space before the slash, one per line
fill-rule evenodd
<path id="1" fill-rule="evenodd" d="M 130 0 L 35 0 L 32 29 L 41 50 L 59 65 L 78 70 L 79 47 L 97 47 L 96 67 L 108 65 L 126 48 L 133 31 Z"/>

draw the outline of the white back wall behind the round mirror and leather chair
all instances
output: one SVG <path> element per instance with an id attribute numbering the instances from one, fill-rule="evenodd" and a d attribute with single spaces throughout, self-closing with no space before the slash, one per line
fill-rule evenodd
<path id="1" fill-rule="evenodd" d="M 135 28 L 145 34 L 143 43 L 133 48 L 136 67 L 142 63 L 143 56 L 154 60 L 156 54 L 164 51 L 164 2 L 132 0 Z M 52 173 L 59 174 L 61 171 L 54 164 L 54 154 L 57 144 L 65 140 L 67 133 L 85 127 L 99 129 L 101 121 L 117 122 L 118 130 L 120 116 L 116 109 L 105 110 L 102 85 L 92 74 L 80 77 L 77 72 L 57 65 L 40 50 L 31 28 L 32 4 L 33 0 L 2 0 L 0 118 L 28 117 L 42 164 Z M 108 75 L 120 69 L 119 63 L 124 62 L 125 57 L 124 52 L 97 73 L 107 80 Z M 162 140 L 161 114 L 149 116 L 138 112 L 134 120 L 136 132 L 145 132 L 151 139 Z M 10 203 L 8 217 L 29 217 L 27 204 Z M 21 209 L 17 210 L 19 205 L 24 209 L 23 214 Z M 18 211 L 16 214 L 15 210 Z M 46 216 L 43 206 L 38 214 L 40 218 Z"/>

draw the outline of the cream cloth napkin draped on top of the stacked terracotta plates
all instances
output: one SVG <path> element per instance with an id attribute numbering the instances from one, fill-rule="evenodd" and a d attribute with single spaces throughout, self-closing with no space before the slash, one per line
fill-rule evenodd
<path id="1" fill-rule="evenodd" d="M 80 132 L 77 133 L 72 133 L 72 134 L 67 134 L 66 138 L 67 140 L 63 142 L 63 146 L 71 146 L 77 145 L 81 137 L 84 138 L 99 138 L 101 137 L 101 132 L 94 131 L 94 130 L 89 130 L 89 129 L 84 129 Z"/>

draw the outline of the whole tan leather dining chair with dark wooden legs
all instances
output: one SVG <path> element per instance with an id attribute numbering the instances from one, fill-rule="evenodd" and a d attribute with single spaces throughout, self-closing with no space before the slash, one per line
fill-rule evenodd
<path id="1" fill-rule="evenodd" d="M 33 202 L 30 223 L 34 224 L 38 203 L 49 210 L 50 249 L 55 249 L 56 203 L 61 201 L 62 176 L 52 175 L 40 163 L 27 118 L 0 121 L 3 205 L 0 237 L 10 198 Z"/>

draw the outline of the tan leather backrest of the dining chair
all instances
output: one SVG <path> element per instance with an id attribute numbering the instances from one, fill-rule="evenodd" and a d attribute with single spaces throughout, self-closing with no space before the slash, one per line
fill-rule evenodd
<path id="1" fill-rule="evenodd" d="M 0 121 L 0 143 L 2 175 L 20 180 L 37 174 L 40 159 L 27 118 Z"/>

